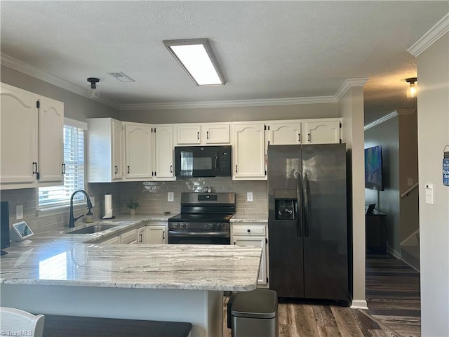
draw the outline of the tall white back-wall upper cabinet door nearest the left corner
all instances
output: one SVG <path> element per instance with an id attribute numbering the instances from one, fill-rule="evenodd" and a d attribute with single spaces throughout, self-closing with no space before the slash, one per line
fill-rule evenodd
<path id="1" fill-rule="evenodd" d="M 142 123 L 124 122 L 125 127 L 125 178 L 126 180 L 151 179 L 152 126 Z"/>

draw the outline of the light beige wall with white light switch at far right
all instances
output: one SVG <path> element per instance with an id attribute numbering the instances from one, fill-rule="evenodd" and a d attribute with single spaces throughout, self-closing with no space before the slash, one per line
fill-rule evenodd
<path id="1" fill-rule="evenodd" d="M 420 93 L 420 263 L 422 336 L 449 336 L 449 187 L 443 185 L 443 148 L 449 144 L 449 33 L 417 57 Z M 424 187 L 434 185 L 434 204 Z"/>

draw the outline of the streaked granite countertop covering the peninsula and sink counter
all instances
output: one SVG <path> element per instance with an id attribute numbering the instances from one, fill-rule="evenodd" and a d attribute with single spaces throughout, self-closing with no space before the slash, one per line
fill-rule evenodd
<path id="1" fill-rule="evenodd" d="M 262 249 L 234 245 L 99 244 L 105 237 L 173 215 L 118 216 L 95 234 L 46 232 L 12 243 L 1 256 L 0 284 L 250 291 Z M 94 223 L 95 224 L 95 223 Z M 75 229 L 92 224 L 76 225 Z M 72 230 L 72 229 L 70 229 Z"/>

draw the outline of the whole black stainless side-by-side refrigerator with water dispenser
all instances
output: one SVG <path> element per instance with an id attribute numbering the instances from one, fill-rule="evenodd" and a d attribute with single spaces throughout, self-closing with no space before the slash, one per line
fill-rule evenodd
<path id="1" fill-rule="evenodd" d="M 344 144 L 269 145 L 269 284 L 283 298 L 349 300 Z"/>

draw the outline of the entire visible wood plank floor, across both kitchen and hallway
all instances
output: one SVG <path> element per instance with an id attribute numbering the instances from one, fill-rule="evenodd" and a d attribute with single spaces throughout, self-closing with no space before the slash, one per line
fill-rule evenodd
<path id="1" fill-rule="evenodd" d="M 279 303 L 279 337 L 420 336 L 420 275 L 391 256 L 367 258 L 366 296 L 370 310 L 339 305 Z M 223 336 L 231 337 L 224 300 Z M 257 336 L 254 336 L 257 337 Z"/>

